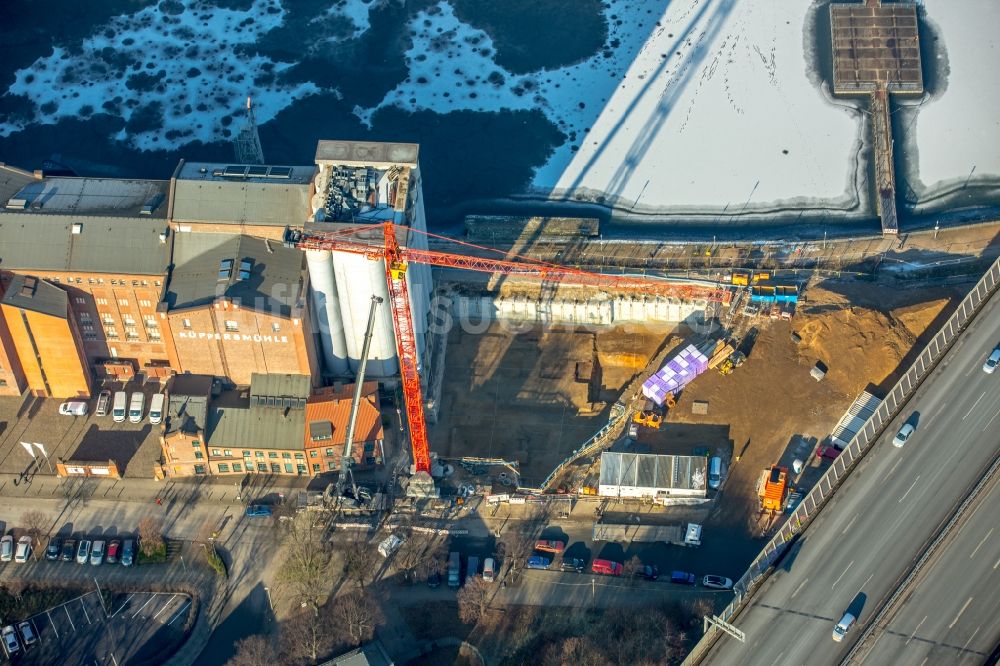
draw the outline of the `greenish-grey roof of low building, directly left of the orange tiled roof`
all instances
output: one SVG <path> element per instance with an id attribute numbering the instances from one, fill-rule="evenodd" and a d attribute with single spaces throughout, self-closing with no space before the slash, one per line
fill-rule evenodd
<path id="1" fill-rule="evenodd" d="M 305 410 L 252 405 L 247 389 L 224 392 L 212 401 L 209 414 L 208 443 L 211 446 L 304 448 Z"/>

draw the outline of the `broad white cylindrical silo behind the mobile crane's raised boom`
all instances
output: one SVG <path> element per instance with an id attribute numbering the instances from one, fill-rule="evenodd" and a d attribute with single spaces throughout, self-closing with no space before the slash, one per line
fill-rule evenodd
<path id="1" fill-rule="evenodd" d="M 375 328 L 365 375 L 373 379 L 398 375 L 396 333 L 392 326 L 389 287 L 385 282 L 385 262 L 371 261 L 362 255 L 334 252 L 333 273 L 340 286 L 337 293 L 351 371 L 358 369 L 368 326 L 368 311 L 374 295 L 381 296 L 386 307 L 375 310 Z"/>

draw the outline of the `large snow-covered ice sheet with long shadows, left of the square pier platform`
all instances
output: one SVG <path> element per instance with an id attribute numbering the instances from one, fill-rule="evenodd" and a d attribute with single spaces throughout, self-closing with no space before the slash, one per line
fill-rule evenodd
<path id="1" fill-rule="evenodd" d="M 809 3 L 621 0 L 605 12 L 601 53 L 512 75 L 442 0 L 411 21 L 409 77 L 355 113 L 370 124 L 387 106 L 540 109 L 568 137 L 533 182 L 557 197 L 677 212 L 858 205 L 860 114 L 810 82 Z"/>

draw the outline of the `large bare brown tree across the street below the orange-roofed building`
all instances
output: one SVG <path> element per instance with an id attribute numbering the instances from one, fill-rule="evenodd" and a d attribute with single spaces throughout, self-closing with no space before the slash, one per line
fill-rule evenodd
<path id="1" fill-rule="evenodd" d="M 316 613 L 329 590 L 331 550 L 323 540 L 322 528 L 309 516 L 290 521 L 285 535 L 285 561 L 277 581 L 293 590 L 296 600 Z"/>

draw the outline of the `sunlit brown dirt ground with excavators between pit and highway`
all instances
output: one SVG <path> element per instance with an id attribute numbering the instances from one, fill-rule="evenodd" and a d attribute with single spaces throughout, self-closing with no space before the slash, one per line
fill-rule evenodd
<path id="1" fill-rule="evenodd" d="M 732 447 L 729 476 L 709 522 L 736 533 L 759 533 L 761 471 L 802 440 L 808 448 L 798 450 L 811 453 L 861 391 L 883 397 L 967 290 L 968 285 L 919 290 L 860 282 L 811 285 L 792 321 L 755 322 L 759 334 L 742 367 L 728 376 L 712 370 L 699 377 L 664 428 L 643 433 L 640 442 L 654 452 L 674 449 L 671 453 L 680 452 L 671 446 L 676 441 L 723 455 Z M 801 342 L 793 342 L 793 331 Z M 809 375 L 817 361 L 829 368 L 820 382 Z M 707 415 L 692 413 L 695 400 L 708 401 Z M 810 466 L 826 464 L 807 460 Z"/>

